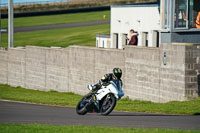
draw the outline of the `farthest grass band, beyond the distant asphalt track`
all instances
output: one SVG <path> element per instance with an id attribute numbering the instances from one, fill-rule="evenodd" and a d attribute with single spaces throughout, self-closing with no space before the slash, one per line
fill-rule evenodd
<path id="1" fill-rule="evenodd" d="M 104 19 L 103 16 L 106 15 Z M 14 27 L 26 27 L 36 25 L 64 24 L 75 22 L 90 22 L 98 20 L 109 20 L 110 11 L 70 13 L 60 15 L 34 16 L 14 18 Z M 2 27 L 8 27 L 8 19 L 2 19 Z"/>

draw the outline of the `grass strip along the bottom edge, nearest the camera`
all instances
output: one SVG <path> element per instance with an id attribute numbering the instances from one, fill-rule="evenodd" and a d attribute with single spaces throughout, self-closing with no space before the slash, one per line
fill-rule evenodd
<path id="1" fill-rule="evenodd" d="M 137 129 L 101 126 L 52 126 L 39 124 L 0 124 L 3 133 L 199 133 L 195 130 Z"/>

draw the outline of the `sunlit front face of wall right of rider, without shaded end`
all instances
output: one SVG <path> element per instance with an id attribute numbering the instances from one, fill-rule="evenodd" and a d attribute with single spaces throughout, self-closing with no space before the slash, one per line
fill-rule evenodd
<path id="1" fill-rule="evenodd" d="M 163 64 L 164 52 L 166 65 Z M 160 48 L 127 47 L 127 94 L 132 99 L 154 102 L 185 100 L 184 54 L 184 45 L 163 44 Z"/>

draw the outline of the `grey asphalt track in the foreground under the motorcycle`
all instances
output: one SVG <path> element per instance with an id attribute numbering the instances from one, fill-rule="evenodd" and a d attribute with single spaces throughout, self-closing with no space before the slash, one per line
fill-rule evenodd
<path id="1" fill-rule="evenodd" d="M 200 116 L 112 112 L 77 115 L 75 108 L 0 100 L 0 123 L 91 125 L 200 130 Z"/>

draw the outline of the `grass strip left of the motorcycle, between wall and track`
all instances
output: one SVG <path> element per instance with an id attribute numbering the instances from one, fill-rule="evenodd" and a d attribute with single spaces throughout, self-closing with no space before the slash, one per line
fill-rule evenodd
<path id="1" fill-rule="evenodd" d="M 25 101 L 40 104 L 76 106 L 81 99 L 80 95 L 73 93 L 60 93 L 56 91 L 39 91 L 0 85 L 0 99 Z"/>

